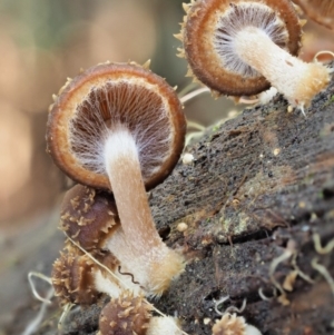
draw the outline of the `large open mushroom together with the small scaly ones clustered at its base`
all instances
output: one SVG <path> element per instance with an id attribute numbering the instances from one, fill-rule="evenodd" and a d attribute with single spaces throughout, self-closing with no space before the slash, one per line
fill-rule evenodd
<path id="1" fill-rule="evenodd" d="M 175 90 L 135 62 L 81 72 L 50 107 L 47 150 L 80 183 L 65 196 L 60 228 L 105 267 L 67 243 L 52 284 L 61 304 L 111 297 L 100 334 L 180 334 L 174 319 L 151 317 L 144 299 L 161 295 L 184 269 L 157 233 L 146 190 L 173 170 L 185 131 Z"/>

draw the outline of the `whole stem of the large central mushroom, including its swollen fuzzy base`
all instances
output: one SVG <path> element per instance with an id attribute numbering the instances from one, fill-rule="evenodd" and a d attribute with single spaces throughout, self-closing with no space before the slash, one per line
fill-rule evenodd
<path id="1" fill-rule="evenodd" d="M 108 243 L 109 249 L 148 294 L 160 295 L 181 272 L 183 258 L 161 242 L 156 230 L 137 145 L 127 129 L 119 127 L 109 132 L 105 165 L 121 223 L 121 231 Z M 121 243 L 122 231 L 126 240 Z"/>

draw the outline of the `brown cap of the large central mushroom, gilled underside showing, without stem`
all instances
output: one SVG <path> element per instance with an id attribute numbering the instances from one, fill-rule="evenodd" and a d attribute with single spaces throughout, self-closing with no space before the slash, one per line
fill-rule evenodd
<path id="1" fill-rule="evenodd" d="M 179 158 L 186 122 L 174 89 L 134 62 L 95 66 L 61 88 L 50 109 L 48 151 L 72 179 L 110 190 L 104 142 L 119 124 L 135 137 L 146 188 L 155 187 Z"/>

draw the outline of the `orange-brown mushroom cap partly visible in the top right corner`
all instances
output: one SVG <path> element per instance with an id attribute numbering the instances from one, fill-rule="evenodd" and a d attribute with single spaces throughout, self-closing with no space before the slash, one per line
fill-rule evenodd
<path id="1" fill-rule="evenodd" d="M 333 0 L 294 0 L 315 22 L 334 30 L 334 1 Z"/>

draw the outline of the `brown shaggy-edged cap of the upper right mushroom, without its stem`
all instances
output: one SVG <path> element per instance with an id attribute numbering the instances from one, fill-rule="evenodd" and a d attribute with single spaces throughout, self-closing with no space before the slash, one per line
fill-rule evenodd
<path id="1" fill-rule="evenodd" d="M 216 93 L 250 96 L 271 86 L 250 67 L 246 67 L 246 76 L 232 70 L 230 60 L 238 57 L 219 53 L 222 33 L 230 36 L 233 50 L 233 36 L 239 28 L 252 26 L 267 32 L 271 26 L 273 41 L 294 56 L 298 53 L 301 24 L 291 1 L 202 0 L 186 7 L 186 11 L 181 35 L 190 72 Z M 238 65 L 236 68 L 240 69 Z"/>

